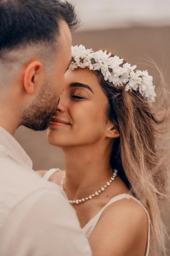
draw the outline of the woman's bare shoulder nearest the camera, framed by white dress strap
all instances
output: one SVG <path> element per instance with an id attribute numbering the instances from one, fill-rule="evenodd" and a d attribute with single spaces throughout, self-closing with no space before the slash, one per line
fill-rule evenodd
<path id="1" fill-rule="evenodd" d="M 147 213 L 134 199 L 118 200 L 103 211 L 90 237 L 91 244 L 95 243 L 99 233 L 101 240 L 105 239 L 105 245 L 100 249 L 110 248 L 109 255 L 144 255 L 148 236 Z M 138 250 L 141 252 L 136 254 Z"/>

